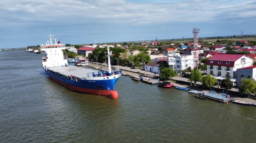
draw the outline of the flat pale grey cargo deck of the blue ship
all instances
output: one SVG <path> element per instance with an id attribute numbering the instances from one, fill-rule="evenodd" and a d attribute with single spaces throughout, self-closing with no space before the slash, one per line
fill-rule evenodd
<path id="1" fill-rule="evenodd" d="M 55 67 L 49 67 L 48 69 L 54 72 L 59 72 L 60 74 L 63 74 L 63 75 L 68 75 L 68 76 L 72 75 L 79 78 L 86 77 L 88 73 L 99 72 L 97 70 L 86 69 L 86 68 L 77 67 L 77 66 L 65 66 L 65 67 L 55 66 Z"/>

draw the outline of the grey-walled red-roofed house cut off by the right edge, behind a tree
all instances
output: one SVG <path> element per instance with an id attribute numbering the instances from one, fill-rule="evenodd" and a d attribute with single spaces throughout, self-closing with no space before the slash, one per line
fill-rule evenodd
<path id="1" fill-rule="evenodd" d="M 237 86 L 242 86 L 242 78 L 252 78 L 254 81 L 256 79 L 256 65 L 248 66 L 245 68 L 237 69 Z"/>

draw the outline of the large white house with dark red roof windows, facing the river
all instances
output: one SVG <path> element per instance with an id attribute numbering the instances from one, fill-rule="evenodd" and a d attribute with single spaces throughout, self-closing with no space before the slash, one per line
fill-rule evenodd
<path id="1" fill-rule="evenodd" d="M 215 54 L 206 61 L 207 74 L 221 80 L 230 76 L 233 85 L 236 81 L 236 70 L 253 65 L 253 59 L 242 54 Z"/>

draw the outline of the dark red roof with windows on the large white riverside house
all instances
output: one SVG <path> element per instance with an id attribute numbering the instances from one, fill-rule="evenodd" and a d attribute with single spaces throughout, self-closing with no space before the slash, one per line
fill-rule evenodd
<path id="1" fill-rule="evenodd" d="M 234 67 L 234 62 L 236 62 L 236 60 L 238 60 L 242 56 L 244 56 L 244 55 L 242 55 L 242 54 L 216 54 L 216 55 L 210 57 L 206 61 L 206 65 Z M 213 61 L 213 63 L 210 63 L 210 61 Z M 221 61 L 221 63 L 218 63 L 219 61 Z M 227 62 L 230 62 L 230 63 L 227 64 Z"/>

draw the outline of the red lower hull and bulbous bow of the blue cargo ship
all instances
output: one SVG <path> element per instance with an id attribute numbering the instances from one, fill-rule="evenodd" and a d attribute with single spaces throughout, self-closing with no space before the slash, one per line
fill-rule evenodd
<path id="1" fill-rule="evenodd" d="M 70 90 L 74 90 L 74 91 L 82 92 L 82 93 L 103 95 L 103 96 L 107 96 L 107 97 L 112 98 L 112 99 L 117 99 L 117 97 L 118 97 L 118 93 L 114 90 L 85 89 L 85 88 L 81 88 L 81 87 L 72 86 L 72 85 L 67 84 L 67 83 L 65 83 L 61 80 L 58 80 L 57 78 L 54 78 L 52 76 L 49 76 L 49 77 L 51 78 L 51 80 L 55 81 L 56 83 L 66 87 Z"/>

